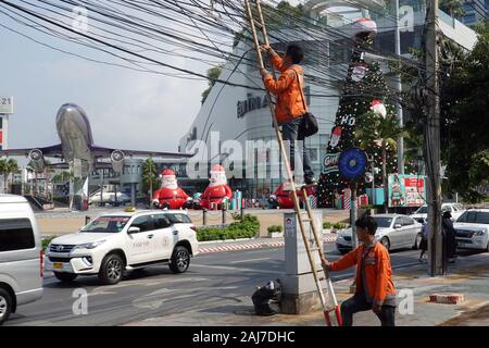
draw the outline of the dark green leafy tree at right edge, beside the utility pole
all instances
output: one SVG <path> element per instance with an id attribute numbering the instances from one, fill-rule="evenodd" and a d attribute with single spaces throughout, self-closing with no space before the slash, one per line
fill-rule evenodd
<path id="1" fill-rule="evenodd" d="M 485 177 L 477 173 L 489 150 L 489 21 L 476 29 L 474 49 L 466 53 L 449 46 L 451 54 L 442 54 L 448 57 L 440 69 L 444 72 L 440 76 L 441 149 L 448 187 L 468 201 L 481 199 Z"/>

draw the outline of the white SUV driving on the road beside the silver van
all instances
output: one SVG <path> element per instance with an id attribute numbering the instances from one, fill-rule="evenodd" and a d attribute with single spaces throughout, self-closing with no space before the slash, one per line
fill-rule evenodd
<path id="1" fill-rule="evenodd" d="M 79 233 L 49 245 L 46 270 L 61 282 L 98 275 L 117 284 L 125 270 L 167 263 L 184 273 L 199 253 L 197 228 L 185 211 L 124 211 L 98 216 Z"/>

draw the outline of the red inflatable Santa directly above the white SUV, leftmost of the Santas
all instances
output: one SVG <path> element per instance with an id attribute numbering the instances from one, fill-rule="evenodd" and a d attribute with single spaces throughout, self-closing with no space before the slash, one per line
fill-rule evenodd
<path id="1" fill-rule="evenodd" d="M 160 177 L 161 188 L 153 194 L 153 204 L 161 209 L 181 209 L 190 197 L 178 187 L 175 173 L 165 170 Z"/>

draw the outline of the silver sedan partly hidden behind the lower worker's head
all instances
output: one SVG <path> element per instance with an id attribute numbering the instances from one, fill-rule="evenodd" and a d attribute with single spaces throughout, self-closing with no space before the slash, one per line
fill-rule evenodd
<path id="1" fill-rule="evenodd" d="M 419 247 L 422 240 L 422 224 L 408 215 L 378 214 L 374 216 L 377 222 L 375 237 L 387 250 Z M 352 229 L 347 228 L 338 234 L 336 247 L 340 253 L 352 249 Z"/>

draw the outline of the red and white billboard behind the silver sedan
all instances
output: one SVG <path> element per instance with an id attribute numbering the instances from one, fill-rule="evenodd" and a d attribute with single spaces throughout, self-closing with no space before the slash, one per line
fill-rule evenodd
<path id="1" fill-rule="evenodd" d="M 421 207 L 426 201 L 426 176 L 389 175 L 389 207 Z"/>

